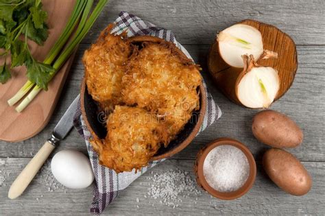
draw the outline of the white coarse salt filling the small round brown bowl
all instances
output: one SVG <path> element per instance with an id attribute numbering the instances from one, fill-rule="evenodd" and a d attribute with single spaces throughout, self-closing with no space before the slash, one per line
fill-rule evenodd
<path id="1" fill-rule="evenodd" d="M 245 184 L 250 173 L 248 159 L 241 149 L 232 145 L 219 145 L 204 160 L 206 182 L 220 192 L 231 192 Z"/>

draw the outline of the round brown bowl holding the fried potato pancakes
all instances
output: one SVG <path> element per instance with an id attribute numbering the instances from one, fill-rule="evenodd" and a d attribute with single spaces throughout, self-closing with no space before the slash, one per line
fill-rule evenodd
<path id="1" fill-rule="evenodd" d="M 132 43 L 160 43 L 164 40 L 153 36 L 135 36 L 130 38 L 130 41 L 132 41 Z M 179 51 L 182 56 L 186 57 L 180 49 L 177 49 L 177 51 Z M 160 160 L 173 156 L 182 151 L 182 149 L 189 145 L 189 143 L 191 143 L 195 138 L 197 132 L 199 132 L 201 128 L 206 112 L 206 93 L 204 91 L 203 83 L 198 86 L 197 91 L 200 95 L 200 109 L 192 113 L 191 119 L 186 123 L 184 129 L 178 134 L 177 138 L 171 141 L 167 147 L 160 147 L 151 160 Z M 98 111 L 96 101 L 94 101 L 93 97 L 88 94 L 85 78 L 82 80 L 80 96 L 82 116 L 84 117 L 88 130 L 95 139 L 104 139 L 107 134 L 106 127 L 102 123 L 105 114 L 104 112 Z"/>

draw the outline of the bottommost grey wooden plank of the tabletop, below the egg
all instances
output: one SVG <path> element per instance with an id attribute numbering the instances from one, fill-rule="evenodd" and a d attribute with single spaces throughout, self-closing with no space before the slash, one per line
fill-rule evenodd
<path id="1" fill-rule="evenodd" d="M 1 159 L 5 161 L 4 165 L 0 165 L 0 170 L 5 172 L 5 184 L 0 187 L 1 214 L 89 215 L 88 207 L 93 197 L 92 186 L 81 190 L 59 187 L 49 192 L 45 184 L 51 182 L 52 176 L 37 176 L 21 197 L 9 200 L 6 197 L 8 182 L 14 180 L 29 159 Z M 303 197 L 295 197 L 281 191 L 267 178 L 262 166 L 258 164 L 256 181 L 243 197 L 232 201 L 217 200 L 197 187 L 201 194 L 182 197 L 180 206 L 173 209 L 160 204 L 159 199 L 149 199 L 147 192 L 152 182 L 148 177 L 152 176 L 151 171 L 153 174 L 160 174 L 177 167 L 189 171 L 195 180 L 192 172 L 193 160 L 166 160 L 122 191 L 103 215 L 323 215 L 325 165 L 315 162 L 304 162 L 303 165 L 313 177 L 313 188 Z M 147 195 L 147 198 L 144 195 Z M 139 203 L 136 198 L 139 198 Z"/>

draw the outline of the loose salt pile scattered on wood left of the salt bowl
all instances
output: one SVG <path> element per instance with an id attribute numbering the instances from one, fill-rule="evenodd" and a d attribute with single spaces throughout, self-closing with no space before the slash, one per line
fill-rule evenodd
<path id="1" fill-rule="evenodd" d="M 201 193 L 197 190 L 196 183 L 189 172 L 180 169 L 170 169 L 161 174 L 156 173 L 149 180 L 151 180 L 151 186 L 147 193 L 149 198 L 158 199 L 160 204 L 172 208 L 180 206 L 182 197 L 186 198 Z"/>

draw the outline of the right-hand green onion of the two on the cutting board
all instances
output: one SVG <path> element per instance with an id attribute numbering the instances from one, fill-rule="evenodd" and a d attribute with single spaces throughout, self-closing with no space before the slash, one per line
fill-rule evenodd
<path id="1" fill-rule="evenodd" d="M 75 34 L 73 35 L 73 38 L 71 39 L 67 47 L 62 51 L 62 53 L 60 54 L 56 62 L 54 62 L 53 64 L 53 68 L 56 69 L 56 72 L 60 69 L 60 67 L 62 67 L 64 62 L 66 62 L 67 59 L 71 56 L 75 47 L 79 45 L 79 43 L 82 41 L 84 36 L 86 36 L 89 29 L 91 29 L 91 27 L 95 23 L 101 11 L 104 9 L 104 6 L 106 5 L 107 2 L 108 0 L 99 0 L 93 12 L 91 12 L 91 15 L 88 17 L 89 12 L 91 11 L 91 6 L 93 5 L 93 0 L 87 1 L 86 7 L 84 8 L 84 12 L 82 13 L 82 19 L 80 20 L 80 25 L 78 26 Z M 56 74 L 56 72 L 54 72 L 51 75 L 51 78 Z M 26 106 L 28 106 L 28 104 L 34 99 L 34 97 L 38 95 L 41 89 L 42 88 L 40 88 L 39 86 L 35 86 L 32 89 L 32 91 L 29 93 L 29 95 L 27 95 L 27 97 L 23 99 L 23 101 L 21 101 L 21 104 L 19 104 L 19 106 L 16 107 L 16 111 L 17 112 L 23 111 L 23 109 Z"/>

